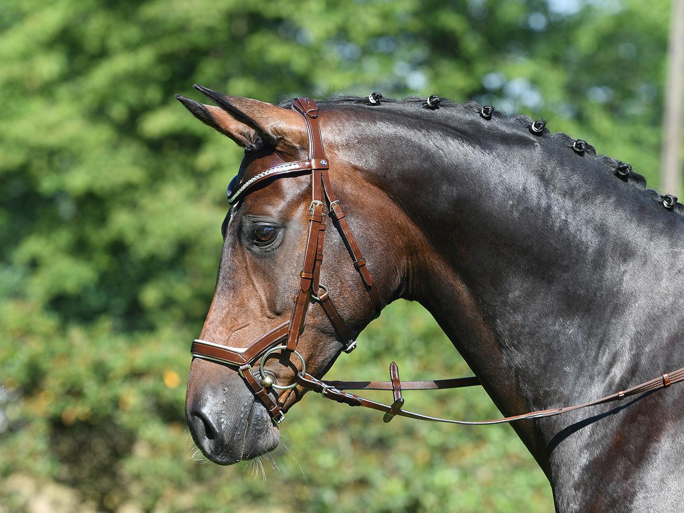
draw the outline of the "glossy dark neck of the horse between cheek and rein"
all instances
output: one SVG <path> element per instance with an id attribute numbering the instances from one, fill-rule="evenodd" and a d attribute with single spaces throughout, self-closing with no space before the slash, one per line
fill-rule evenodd
<path id="1" fill-rule="evenodd" d="M 464 127 L 419 141 L 395 133 L 382 151 L 393 160 L 369 170 L 432 246 L 406 298 L 428 308 L 507 415 L 666 369 L 661 341 L 682 330 L 681 218 L 592 155 L 524 133 L 477 142 Z"/>

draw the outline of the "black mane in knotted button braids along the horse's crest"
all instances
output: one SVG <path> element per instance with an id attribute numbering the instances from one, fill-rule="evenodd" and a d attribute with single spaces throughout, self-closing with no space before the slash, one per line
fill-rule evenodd
<path id="1" fill-rule="evenodd" d="M 373 109 L 376 110 L 389 110 L 399 114 L 410 114 L 410 111 L 407 110 L 407 107 L 408 109 L 411 109 L 411 107 L 415 107 L 416 113 L 418 113 L 419 111 L 424 112 L 425 109 L 423 108 L 423 106 L 425 105 L 425 101 L 427 99 L 428 98 L 425 98 L 423 96 L 408 96 L 401 100 L 397 100 L 396 98 L 387 98 L 385 96 L 382 96 L 382 105 L 373 105 L 369 100 L 368 96 L 362 97 L 352 95 L 339 95 L 330 96 L 329 98 L 326 98 L 324 100 L 317 100 L 317 104 L 323 108 L 334 108 L 338 105 L 358 105 L 359 108 L 363 108 L 364 106 L 372 106 Z M 280 101 L 280 103 L 278 103 L 278 107 L 289 109 L 292 107 L 292 103 L 293 99 L 285 98 L 282 101 Z M 479 105 L 479 103 L 475 101 L 466 101 L 463 103 L 458 103 L 456 101 L 449 100 L 448 98 L 441 97 L 439 107 L 440 109 L 460 109 L 464 112 L 471 113 L 475 116 L 479 115 L 479 111 L 482 110 L 482 105 Z M 525 132 L 529 131 L 529 127 L 533 122 L 532 118 L 530 118 L 529 116 L 525 116 L 524 114 L 507 116 L 503 111 L 499 111 L 497 109 L 495 109 L 491 116 L 492 120 L 494 120 L 495 118 L 497 120 L 501 120 L 501 122 L 508 123 L 512 127 L 521 129 Z M 571 147 L 573 146 L 575 141 L 577 141 L 574 137 L 566 133 L 551 133 L 545 127 L 540 134 L 536 135 L 536 137 L 547 137 L 557 142 L 559 147 Z M 616 169 L 620 165 L 620 161 L 618 159 L 614 159 L 613 157 L 608 157 L 607 155 L 596 155 L 596 148 L 594 148 L 594 146 L 588 143 L 586 144 L 586 149 L 584 150 L 583 155 L 585 157 L 592 157 L 598 160 L 600 163 L 603 164 L 607 172 L 613 174 L 617 179 L 622 180 L 624 183 L 629 183 L 636 189 L 643 191 L 644 194 L 646 194 L 649 198 L 652 198 L 655 202 L 659 203 L 660 205 L 663 205 L 664 196 L 662 196 L 656 189 L 648 188 L 646 185 L 646 178 L 642 174 L 630 171 L 628 174 L 624 176 L 620 175 L 616 171 Z M 669 210 L 684 216 L 684 205 L 682 205 L 681 202 L 676 202 Z"/>

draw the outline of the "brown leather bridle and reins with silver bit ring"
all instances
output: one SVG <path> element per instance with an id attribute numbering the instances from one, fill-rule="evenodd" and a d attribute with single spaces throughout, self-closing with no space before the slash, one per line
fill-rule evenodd
<path id="1" fill-rule="evenodd" d="M 363 258 L 363 254 L 361 254 L 356 239 L 354 239 L 350 226 L 345 219 L 345 214 L 340 207 L 340 202 L 332 190 L 330 176 L 328 175 L 330 166 L 328 159 L 326 158 L 323 140 L 321 138 L 318 107 L 315 101 L 310 98 L 297 98 L 294 101 L 292 108 L 302 115 L 306 124 L 306 130 L 308 132 L 308 159 L 284 162 L 277 166 L 267 168 L 244 183 L 237 184 L 238 187 L 236 190 L 228 192 L 228 202 L 233 205 L 241 196 L 244 196 L 250 189 L 253 189 L 255 185 L 262 183 L 265 180 L 301 174 L 302 172 L 311 172 L 312 200 L 308 209 L 306 252 L 304 253 L 304 264 L 302 265 L 302 271 L 300 272 L 300 287 L 293 298 L 294 306 L 292 308 L 291 317 L 289 321 L 280 324 L 280 326 L 276 326 L 276 328 L 264 334 L 248 347 L 227 347 L 218 343 L 196 339 L 193 341 L 190 350 L 192 356 L 195 358 L 203 358 L 205 360 L 237 367 L 240 376 L 244 378 L 245 382 L 252 390 L 252 393 L 259 398 L 276 423 L 280 423 L 285 419 L 285 412 L 282 411 L 280 404 L 278 404 L 278 400 L 274 400 L 269 395 L 267 391 L 269 388 L 286 390 L 299 385 L 304 389 L 313 390 L 320 393 L 323 397 L 339 403 L 348 404 L 350 406 L 365 406 L 366 408 L 384 412 L 385 415 L 383 420 L 385 422 L 389 422 L 394 417 L 399 416 L 408 417 L 410 419 L 453 424 L 486 425 L 560 415 L 561 413 L 579 410 L 580 408 L 612 402 L 631 395 L 661 389 L 670 386 L 672 383 L 684 380 L 684 368 L 682 368 L 670 373 L 663 373 L 661 376 L 638 384 L 637 386 L 633 386 L 631 389 L 619 391 L 601 397 L 601 399 L 577 404 L 575 406 L 536 410 L 523 415 L 514 415 L 512 417 L 503 417 L 501 419 L 488 421 L 458 421 L 430 417 L 428 415 L 421 415 L 419 413 L 404 410 L 402 408 L 404 406 L 402 390 L 455 389 L 460 388 L 461 386 L 473 386 L 479 384 L 479 380 L 477 380 L 475 376 L 470 378 L 453 378 L 450 380 L 402 382 L 399 380 L 399 369 L 394 362 L 390 365 L 390 381 L 384 382 L 326 381 L 318 380 L 311 376 L 311 374 L 306 373 L 306 362 L 304 361 L 304 357 L 297 351 L 297 343 L 300 335 L 304 331 L 306 313 L 312 302 L 320 304 L 324 313 L 326 313 L 328 319 L 330 319 L 330 323 L 337 334 L 337 339 L 343 344 L 343 351 L 350 353 L 356 347 L 356 340 L 352 337 L 352 332 L 347 328 L 344 319 L 342 319 L 337 308 L 334 306 L 334 303 L 328 294 L 328 289 L 319 282 L 321 262 L 323 261 L 327 215 L 330 215 L 339 229 L 339 233 L 350 253 L 350 257 L 352 257 L 352 260 L 354 261 L 354 267 L 356 267 L 356 270 L 360 274 L 365 289 L 371 298 L 371 302 L 373 302 L 376 317 L 380 315 L 382 301 L 380 300 L 376 287 L 373 286 L 373 280 L 366 265 L 366 260 Z M 328 205 L 328 214 L 324 211 L 326 203 Z M 269 354 L 278 351 L 294 354 L 301 363 L 302 370 L 298 371 L 296 374 L 295 382 L 287 386 L 276 384 L 271 373 L 264 369 L 266 357 L 269 356 Z M 255 365 L 259 359 L 261 359 L 261 363 L 259 365 L 257 378 L 257 376 L 254 375 L 252 365 Z M 371 401 L 371 399 L 365 399 L 354 393 L 345 392 L 345 390 L 391 390 L 393 392 L 394 401 L 391 405 L 382 404 Z"/>

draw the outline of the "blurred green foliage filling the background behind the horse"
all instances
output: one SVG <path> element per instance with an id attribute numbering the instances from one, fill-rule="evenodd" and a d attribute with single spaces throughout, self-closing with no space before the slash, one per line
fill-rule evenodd
<path id="1" fill-rule="evenodd" d="M 273 459 L 192 460 L 188 341 L 241 150 L 173 94 L 475 98 L 655 179 L 668 17 L 664 0 L 3 1 L 0 511 L 27 507 L 27 479 L 121 512 L 549 511 L 508 427 L 388 425 L 315 396 Z M 407 378 L 468 373 L 417 305 L 359 345 L 330 377 L 381 379 L 391 358 Z M 482 391 L 423 394 L 408 404 L 497 415 Z"/>

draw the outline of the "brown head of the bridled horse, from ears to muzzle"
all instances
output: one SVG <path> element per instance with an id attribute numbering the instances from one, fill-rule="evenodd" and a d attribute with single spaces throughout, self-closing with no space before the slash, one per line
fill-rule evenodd
<path id="1" fill-rule="evenodd" d="M 214 462 L 233 464 L 278 445 L 277 421 L 305 392 L 295 383 L 296 374 L 305 365 L 308 375 L 322 377 L 397 295 L 406 255 L 412 252 L 388 254 L 387 249 L 406 246 L 411 228 L 406 222 L 402 230 L 402 211 L 358 171 L 357 161 L 345 157 L 353 134 L 345 128 L 343 111 L 316 111 L 313 118 L 311 111 L 196 88 L 218 105 L 177 98 L 202 122 L 245 148 L 228 188 L 232 205 L 222 224 L 215 293 L 194 344 L 204 353 L 195 353 L 202 357 L 192 360 L 185 403 L 198 447 Z M 321 131 L 314 141 L 310 122 Z M 292 162 L 307 163 L 312 157 L 314 167 L 325 169 L 291 168 Z M 275 172 L 263 176 L 265 170 Z M 320 200 L 315 204 L 315 196 L 312 202 L 317 177 L 320 189 L 314 194 L 328 204 L 332 188 L 337 194 L 329 210 Z M 334 218 L 327 235 L 326 217 Z M 311 237 L 320 238 L 310 244 Z M 312 248 L 313 257 L 308 254 Z M 315 276 L 302 270 L 306 261 L 313 262 L 309 270 Z M 297 311 L 301 318 L 295 321 Z M 266 352 L 292 339 L 295 351 Z M 227 360 L 222 357 L 226 348 Z"/>

